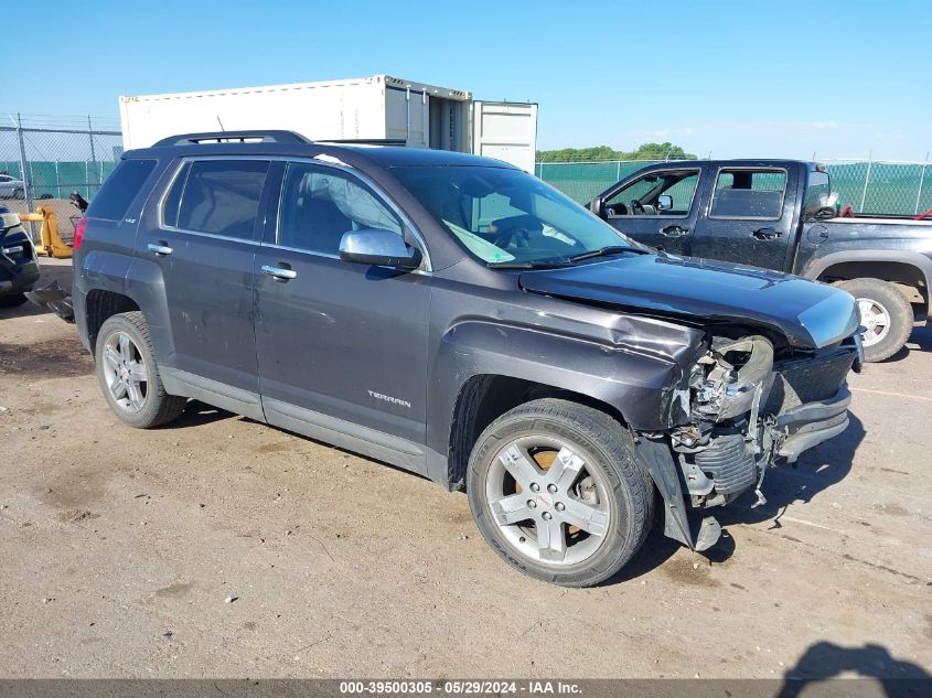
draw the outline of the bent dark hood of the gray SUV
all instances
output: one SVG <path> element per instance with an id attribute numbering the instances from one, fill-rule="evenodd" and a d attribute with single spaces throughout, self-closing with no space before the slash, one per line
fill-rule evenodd
<path id="1" fill-rule="evenodd" d="M 800 347 L 834 344 L 854 334 L 859 323 L 855 300 L 845 291 L 706 259 L 624 256 L 526 271 L 519 283 L 534 293 L 620 310 L 764 325 Z"/>

